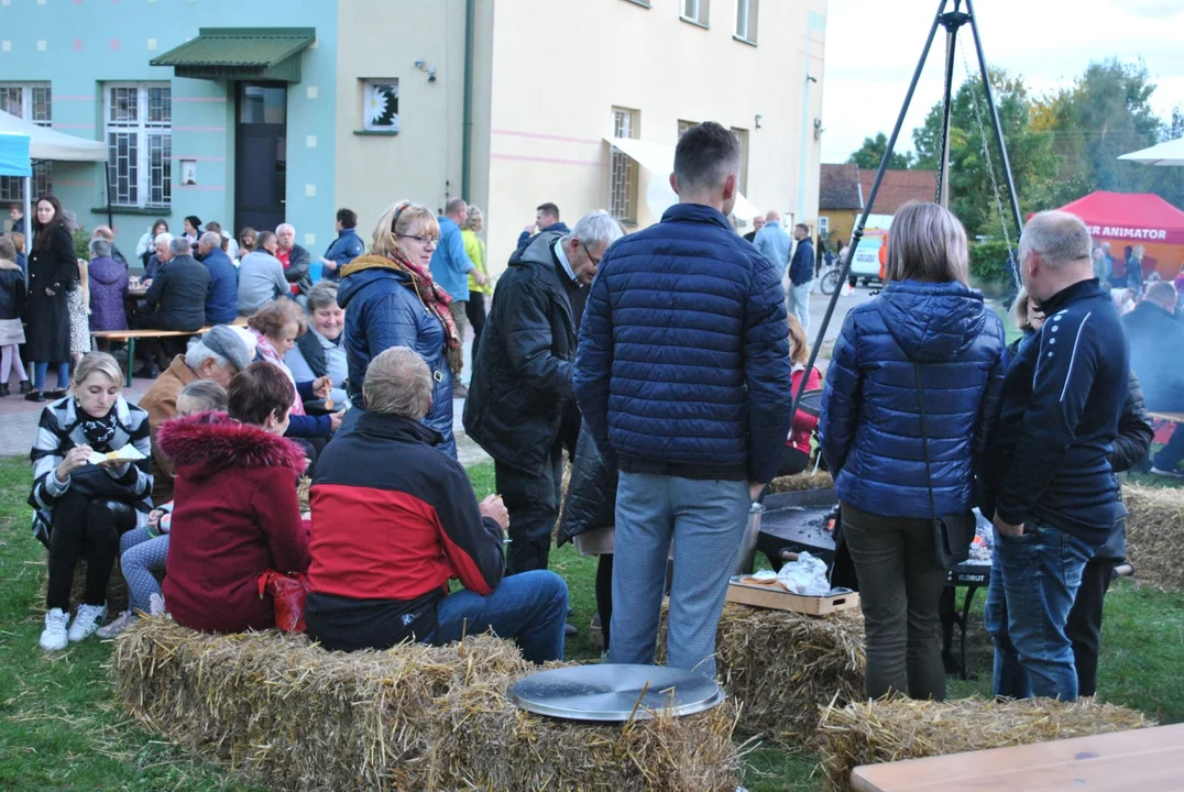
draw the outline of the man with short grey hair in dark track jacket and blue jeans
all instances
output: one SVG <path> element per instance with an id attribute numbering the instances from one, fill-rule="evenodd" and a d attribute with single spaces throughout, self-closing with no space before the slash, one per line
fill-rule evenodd
<path id="1" fill-rule="evenodd" d="M 1073 701 L 1077 677 L 1064 625 L 1081 571 L 1117 517 L 1109 456 L 1128 352 L 1080 218 L 1035 215 L 1019 262 L 1048 318 L 1008 371 L 983 468 L 983 510 L 996 529 L 986 604 L 995 694 Z"/>

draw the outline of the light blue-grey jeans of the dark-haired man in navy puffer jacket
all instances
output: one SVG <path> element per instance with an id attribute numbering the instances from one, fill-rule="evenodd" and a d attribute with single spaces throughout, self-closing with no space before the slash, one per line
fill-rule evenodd
<path id="1" fill-rule="evenodd" d="M 715 676 L 715 630 L 751 507 L 747 482 L 622 471 L 609 662 L 654 662 L 673 539 L 667 664 Z"/>

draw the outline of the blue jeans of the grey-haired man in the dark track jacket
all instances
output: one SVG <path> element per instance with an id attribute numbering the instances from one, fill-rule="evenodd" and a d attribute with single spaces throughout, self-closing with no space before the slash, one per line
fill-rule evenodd
<path id="1" fill-rule="evenodd" d="M 995 695 L 1076 701 L 1073 643 L 1064 635 L 1081 571 L 1100 543 L 1029 523 L 995 532 L 986 631 L 995 640 Z"/>

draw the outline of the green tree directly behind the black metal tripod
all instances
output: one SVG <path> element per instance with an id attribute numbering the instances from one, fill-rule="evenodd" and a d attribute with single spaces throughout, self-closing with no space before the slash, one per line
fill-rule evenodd
<path id="1" fill-rule="evenodd" d="M 1057 161 L 1051 148 L 1051 136 L 1030 125 L 1028 89 L 1019 77 L 1010 77 L 1000 69 L 989 70 L 995 92 L 1003 140 L 1011 161 L 1011 174 L 1019 193 L 1022 208 L 1045 204 L 1049 183 L 1056 173 Z M 976 111 L 977 103 L 977 111 Z M 913 130 L 916 149 L 914 167 L 937 169 L 940 161 L 942 105 L 929 109 L 925 124 Z M 990 152 L 987 157 L 984 146 Z M 990 159 L 991 167 L 987 167 Z M 992 183 L 993 170 L 993 183 Z M 950 210 L 958 215 L 971 236 L 998 236 L 1000 220 L 997 201 L 1003 205 L 1009 233 L 1015 240 L 1006 193 L 1006 178 L 982 79 L 963 82 L 951 101 L 950 109 Z M 995 185 L 998 186 L 996 192 Z"/>

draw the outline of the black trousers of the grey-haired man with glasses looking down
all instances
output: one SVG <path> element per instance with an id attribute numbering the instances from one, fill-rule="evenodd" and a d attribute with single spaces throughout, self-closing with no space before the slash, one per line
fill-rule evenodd
<path id="1" fill-rule="evenodd" d="M 546 569 L 551 553 L 551 532 L 559 519 L 564 484 L 564 446 L 552 445 L 547 464 L 538 472 L 526 472 L 494 462 L 497 491 L 510 513 L 510 543 L 506 550 L 506 574 Z"/>

